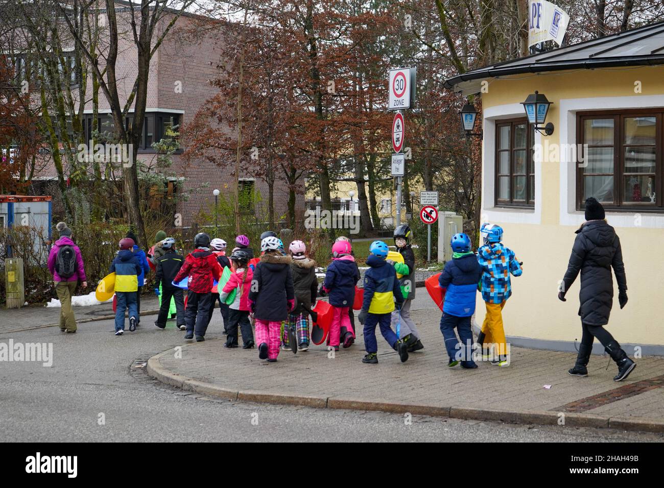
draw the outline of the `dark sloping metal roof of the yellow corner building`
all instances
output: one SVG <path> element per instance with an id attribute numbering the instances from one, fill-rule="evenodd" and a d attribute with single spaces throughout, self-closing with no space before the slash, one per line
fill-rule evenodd
<path id="1" fill-rule="evenodd" d="M 444 87 L 479 93 L 481 80 L 511 74 L 664 64 L 664 21 L 457 74 Z"/>

